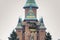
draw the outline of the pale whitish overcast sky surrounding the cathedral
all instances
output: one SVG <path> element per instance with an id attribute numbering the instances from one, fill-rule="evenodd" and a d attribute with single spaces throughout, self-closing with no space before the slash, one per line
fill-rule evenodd
<path id="1" fill-rule="evenodd" d="M 26 0 L 0 0 L 0 39 L 8 40 L 8 36 L 18 23 L 18 18 L 24 18 L 23 6 Z M 39 7 L 38 19 L 43 16 L 47 31 L 52 40 L 60 38 L 60 0 L 36 0 Z"/>

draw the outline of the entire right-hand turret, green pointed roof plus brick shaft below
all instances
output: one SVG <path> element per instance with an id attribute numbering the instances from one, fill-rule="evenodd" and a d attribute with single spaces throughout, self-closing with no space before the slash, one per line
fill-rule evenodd
<path id="1" fill-rule="evenodd" d="M 39 27 L 39 39 L 45 40 L 46 37 L 46 27 L 43 22 L 43 17 L 40 19 L 40 27 Z"/>

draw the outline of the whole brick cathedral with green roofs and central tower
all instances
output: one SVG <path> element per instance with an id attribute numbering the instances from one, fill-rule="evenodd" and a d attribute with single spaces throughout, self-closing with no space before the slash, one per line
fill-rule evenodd
<path id="1" fill-rule="evenodd" d="M 45 40 L 46 27 L 43 17 L 37 19 L 38 6 L 35 0 L 27 0 L 23 7 L 25 9 L 25 18 L 18 20 L 16 33 L 19 40 Z"/>

